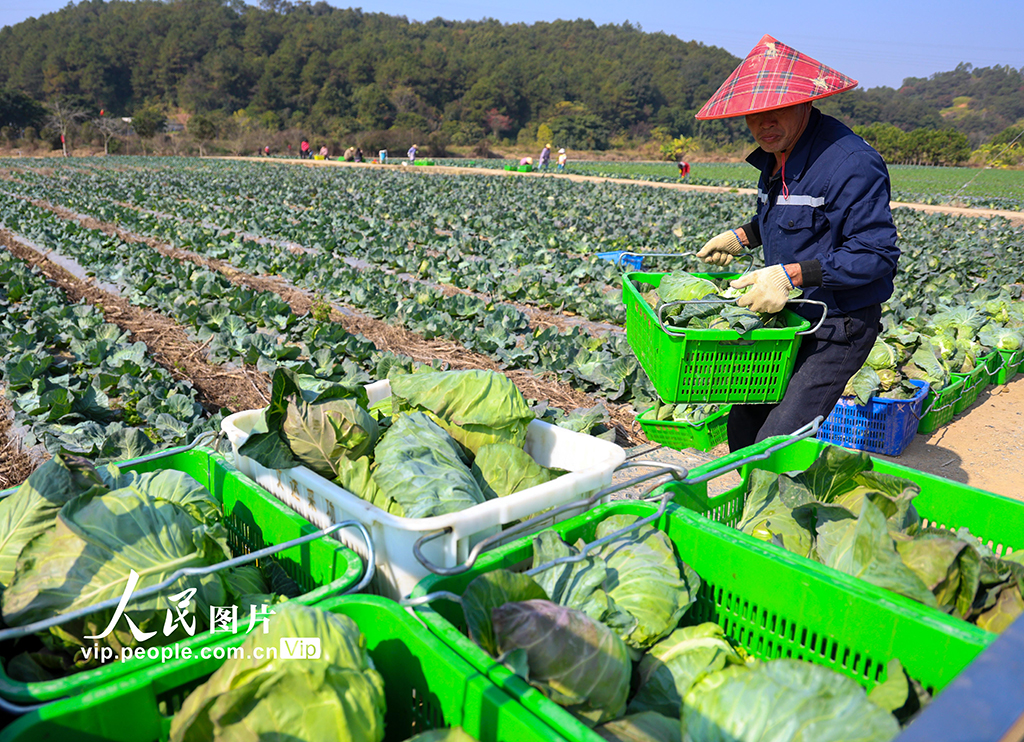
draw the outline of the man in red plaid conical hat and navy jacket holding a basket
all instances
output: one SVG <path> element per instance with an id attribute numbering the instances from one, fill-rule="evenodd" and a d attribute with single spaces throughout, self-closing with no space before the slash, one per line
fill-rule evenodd
<path id="1" fill-rule="evenodd" d="M 811 102 L 856 85 L 766 35 L 697 113 L 745 117 L 759 145 L 746 162 L 761 171 L 754 219 L 712 237 L 697 257 L 728 265 L 761 247 L 768 267 L 732 281 L 751 287 L 741 306 L 777 312 L 792 289 L 802 289 L 828 307 L 824 323 L 801 343 L 782 401 L 733 405 L 731 450 L 827 417 L 881 331 L 900 254 L 889 172 L 863 139 Z M 814 305 L 792 308 L 812 326 L 821 316 Z"/>

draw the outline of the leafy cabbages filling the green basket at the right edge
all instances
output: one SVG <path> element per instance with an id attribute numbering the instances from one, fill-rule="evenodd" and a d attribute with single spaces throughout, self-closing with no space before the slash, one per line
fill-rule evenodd
<path id="1" fill-rule="evenodd" d="M 804 472 L 753 470 L 736 528 L 990 631 L 1024 612 L 1024 553 L 1001 559 L 967 529 L 925 527 L 921 488 L 828 446 Z"/>

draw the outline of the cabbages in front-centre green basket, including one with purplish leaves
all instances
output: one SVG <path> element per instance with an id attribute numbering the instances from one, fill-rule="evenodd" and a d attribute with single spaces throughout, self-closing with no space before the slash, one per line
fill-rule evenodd
<path id="1" fill-rule="evenodd" d="M 594 540 L 636 521 L 612 516 Z M 581 548 L 543 531 L 534 564 Z M 893 712 L 927 701 L 896 660 L 869 695 L 807 662 L 755 660 L 722 626 L 686 620 L 699 588 L 668 536 L 644 525 L 535 576 L 481 574 L 462 605 L 474 642 L 606 740 L 886 742 L 899 732 Z"/>

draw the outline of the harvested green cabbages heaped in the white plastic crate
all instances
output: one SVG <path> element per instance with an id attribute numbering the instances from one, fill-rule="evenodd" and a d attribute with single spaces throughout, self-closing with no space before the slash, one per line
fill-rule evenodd
<path id="1" fill-rule="evenodd" d="M 279 368 L 263 424 L 239 448 L 270 469 L 305 466 L 406 518 L 457 513 L 564 472 L 523 450 L 535 416 L 515 385 L 488 370 L 392 369 L 391 397 Z"/>

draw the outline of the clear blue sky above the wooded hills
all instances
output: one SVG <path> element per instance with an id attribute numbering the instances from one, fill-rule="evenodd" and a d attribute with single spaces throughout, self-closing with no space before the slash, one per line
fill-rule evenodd
<path id="1" fill-rule="evenodd" d="M 52 12 L 67 0 L 0 0 L 0 26 Z M 331 2 L 346 7 L 348 3 Z M 633 4 L 609 0 L 381 0 L 362 3 L 368 12 L 411 20 L 483 17 L 505 23 L 590 18 L 597 24 L 630 20 L 644 31 L 720 46 L 744 56 L 764 34 L 860 81 L 861 87 L 898 87 L 904 78 L 928 77 L 962 61 L 975 67 L 1024 68 L 1024 2 L 1021 0 L 810 0 L 752 2 L 703 0 Z"/>

